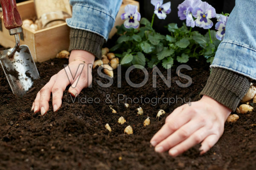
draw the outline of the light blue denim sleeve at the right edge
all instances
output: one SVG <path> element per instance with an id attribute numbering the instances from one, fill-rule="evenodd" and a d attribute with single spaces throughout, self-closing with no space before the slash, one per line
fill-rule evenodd
<path id="1" fill-rule="evenodd" d="M 256 79 L 256 0 L 236 0 L 211 68 Z"/>

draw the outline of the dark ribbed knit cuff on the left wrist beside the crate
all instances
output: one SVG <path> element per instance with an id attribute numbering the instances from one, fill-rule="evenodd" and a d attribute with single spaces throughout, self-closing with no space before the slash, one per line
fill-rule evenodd
<path id="1" fill-rule="evenodd" d="M 102 57 L 104 38 L 90 31 L 70 28 L 69 51 L 84 50 L 92 53 L 98 59 Z"/>

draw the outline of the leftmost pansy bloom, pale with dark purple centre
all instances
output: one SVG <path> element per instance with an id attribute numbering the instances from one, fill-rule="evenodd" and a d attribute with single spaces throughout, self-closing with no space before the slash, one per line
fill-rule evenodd
<path id="1" fill-rule="evenodd" d="M 121 19 L 125 20 L 124 26 L 126 28 L 138 28 L 140 26 L 138 7 L 130 4 L 125 6 L 125 13 L 121 15 Z"/>

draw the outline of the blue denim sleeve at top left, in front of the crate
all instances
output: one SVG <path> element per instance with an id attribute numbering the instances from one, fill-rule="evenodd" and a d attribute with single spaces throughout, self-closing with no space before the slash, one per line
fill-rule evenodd
<path id="1" fill-rule="evenodd" d="M 90 31 L 108 40 L 122 0 L 70 0 L 72 18 L 67 19 L 71 28 Z"/>

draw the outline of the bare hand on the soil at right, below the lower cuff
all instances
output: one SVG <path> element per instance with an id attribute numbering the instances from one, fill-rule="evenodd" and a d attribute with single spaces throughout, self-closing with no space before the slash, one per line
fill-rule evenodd
<path id="1" fill-rule="evenodd" d="M 155 151 L 177 156 L 201 143 L 200 154 L 206 153 L 221 137 L 231 110 L 209 96 L 176 108 L 150 143 Z"/>

